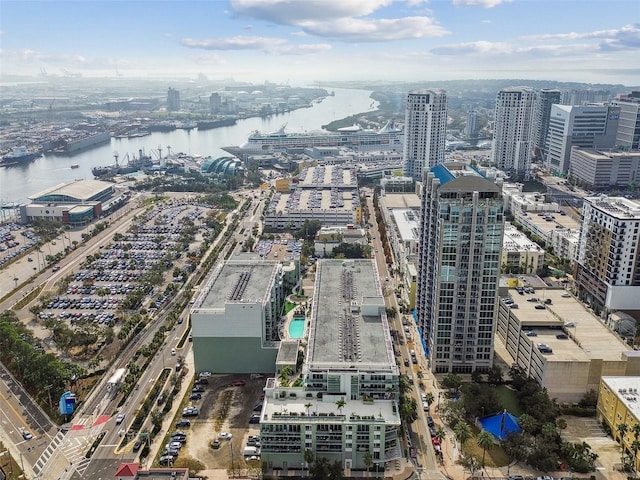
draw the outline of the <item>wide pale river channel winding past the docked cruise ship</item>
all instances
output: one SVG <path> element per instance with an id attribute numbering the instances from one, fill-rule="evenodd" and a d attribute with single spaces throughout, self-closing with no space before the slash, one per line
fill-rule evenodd
<path id="1" fill-rule="evenodd" d="M 26 202 L 27 197 L 59 183 L 75 179 L 94 178 L 91 169 L 114 163 L 114 152 L 118 152 L 119 161 L 138 156 L 143 149 L 146 154 L 156 158 L 159 147 L 166 156 L 168 148 L 172 153 L 183 152 L 189 155 L 226 156 L 221 150 L 229 145 L 241 145 L 254 130 L 270 132 L 286 124 L 290 133 L 320 130 L 322 125 L 348 117 L 356 113 L 374 110 L 377 102 L 370 98 L 371 91 L 341 88 L 327 88 L 335 96 L 326 97 L 322 102 L 313 103 L 310 108 L 301 108 L 269 117 L 256 117 L 240 120 L 236 125 L 211 130 L 173 130 L 154 132 L 140 138 L 112 138 L 111 143 L 78 152 L 74 155 L 47 154 L 35 160 L 19 165 L 0 168 L 0 202 Z M 78 165 L 77 168 L 71 168 Z"/>

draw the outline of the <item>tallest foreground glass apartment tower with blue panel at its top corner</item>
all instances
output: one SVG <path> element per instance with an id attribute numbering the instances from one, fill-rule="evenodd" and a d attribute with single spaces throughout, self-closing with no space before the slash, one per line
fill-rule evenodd
<path id="1" fill-rule="evenodd" d="M 417 310 L 436 373 L 493 364 L 503 212 L 501 185 L 477 170 L 425 170 Z"/>

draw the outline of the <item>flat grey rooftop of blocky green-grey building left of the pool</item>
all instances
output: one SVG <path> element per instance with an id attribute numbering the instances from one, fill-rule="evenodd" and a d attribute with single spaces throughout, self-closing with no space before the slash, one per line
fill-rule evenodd
<path id="1" fill-rule="evenodd" d="M 203 289 L 204 297 L 196 308 L 224 308 L 227 302 L 262 303 L 277 269 L 278 262 L 227 260 Z"/>

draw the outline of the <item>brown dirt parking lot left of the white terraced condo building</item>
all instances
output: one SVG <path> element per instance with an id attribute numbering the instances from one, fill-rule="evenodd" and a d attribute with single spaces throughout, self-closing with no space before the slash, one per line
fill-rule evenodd
<path id="1" fill-rule="evenodd" d="M 249 423 L 249 420 L 256 413 L 254 407 L 262 403 L 265 378 L 252 378 L 249 375 L 213 375 L 206 377 L 206 381 L 205 385 L 193 386 L 202 387 L 198 390 L 204 390 L 203 392 L 195 392 L 201 393 L 202 398 L 189 400 L 187 405 L 179 409 L 183 411 L 188 405 L 198 408 L 197 416 L 188 417 L 191 425 L 176 427 L 176 422 L 181 420 L 181 416 L 178 416 L 172 425 L 176 428 L 169 431 L 171 433 L 181 430 L 186 433 L 186 443 L 180 449 L 177 459 L 192 457 L 203 463 L 205 469 L 228 469 L 231 468 L 233 450 L 233 463 L 236 468 L 257 467 L 259 462 L 245 461 L 244 453 L 246 447 L 256 447 L 255 436 L 260 434 L 259 424 Z M 238 382 L 237 386 L 232 385 L 234 382 Z M 189 389 L 187 397 L 192 392 L 193 390 Z M 212 446 L 216 440 L 218 443 Z M 259 448 L 259 443 L 256 448 Z M 160 453 L 163 449 L 164 445 Z"/>

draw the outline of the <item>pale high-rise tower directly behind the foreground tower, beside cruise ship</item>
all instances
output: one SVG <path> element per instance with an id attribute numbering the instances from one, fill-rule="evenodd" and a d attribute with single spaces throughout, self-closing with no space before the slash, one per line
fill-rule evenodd
<path id="1" fill-rule="evenodd" d="M 447 94 L 417 90 L 407 95 L 404 123 L 404 173 L 422 180 L 422 171 L 444 162 Z"/>

